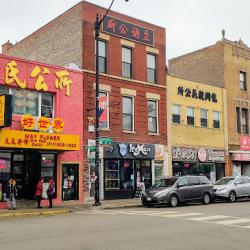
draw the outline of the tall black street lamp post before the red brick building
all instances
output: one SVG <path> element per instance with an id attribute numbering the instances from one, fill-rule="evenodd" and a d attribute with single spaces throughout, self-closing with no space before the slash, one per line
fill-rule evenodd
<path id="1" fill-rule="evenodd" d="M 129 0 L 125 0 L 128 2 Z M 105 15 L 102 17 L 102 19 L 99 21 L 99 16 L 98 14 L 96 15 L 96 20 L 95 20 L 95 43 L 96 43 L 96 100 L 95 100 L 95 203 L 94 206 L 100 206 L 100 189 L 99 189 L 99 177 L 100 177 L 100 157 L 99 157 L 99 148 L 100 148 L 100 143 L 99 143 L 99 35 L 100 35 L 100 27 L 101 24 L 104 20 L 104 18 L 107 16 L 109 13 L 112 5 L 114 3 L 114 0 L 112 0 L 109 8 L 107 9 Z"/>

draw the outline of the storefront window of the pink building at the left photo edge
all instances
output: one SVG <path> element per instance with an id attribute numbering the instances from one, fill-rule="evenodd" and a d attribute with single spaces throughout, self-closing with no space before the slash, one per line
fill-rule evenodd
<path id="1" fill-rule="evenodd" d="M 0 152 L 0 201 L 6 200 L 6 187 L 10 179 L 11 154 Z"/>

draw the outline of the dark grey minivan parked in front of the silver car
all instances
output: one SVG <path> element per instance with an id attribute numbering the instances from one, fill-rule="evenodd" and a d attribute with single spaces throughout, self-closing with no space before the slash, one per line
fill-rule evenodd
<path id="1" fill-rule="evenodd" d="M 179 176 L 161 179 L 142 193 L 142 204 L 150 207 L 165 204 L 172 207 L 189 201 L 209 204 L 214 198 L 213 186 L 205 176 Z"/>

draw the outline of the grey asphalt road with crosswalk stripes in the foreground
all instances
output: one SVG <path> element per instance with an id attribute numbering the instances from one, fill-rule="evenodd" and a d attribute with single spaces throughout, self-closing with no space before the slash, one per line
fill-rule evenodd
<path id="1" fill-rule="evenodd" d="M 250 201 L 0 221 L 0 249 L 250 249 Z"/>

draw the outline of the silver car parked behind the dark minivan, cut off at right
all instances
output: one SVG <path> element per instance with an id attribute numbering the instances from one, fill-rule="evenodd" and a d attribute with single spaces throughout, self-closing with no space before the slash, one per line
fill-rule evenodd
<path id="1" fill-rule="evenodd" d="M 250 178 L 247 176 L 223 177 L 214 185 L 215 197 L 235 202 L 238 198 L 250 197 Z"/>

